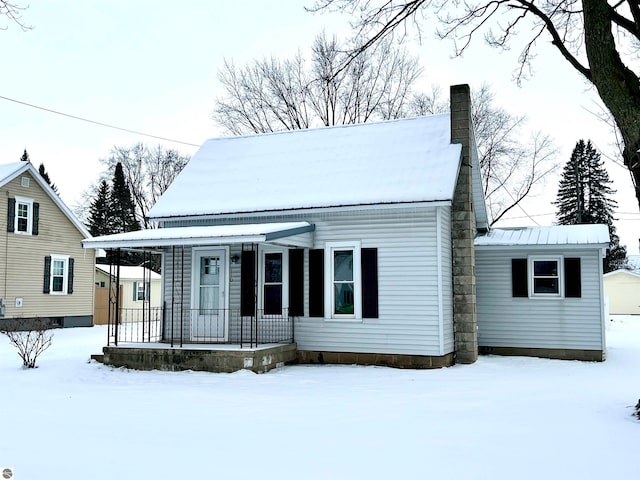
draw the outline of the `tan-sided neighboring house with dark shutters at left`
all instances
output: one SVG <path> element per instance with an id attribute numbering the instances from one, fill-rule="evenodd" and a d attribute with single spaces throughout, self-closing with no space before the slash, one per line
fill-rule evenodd
<path id="1" fill-rule="evenodd" d="M 0 324 L 40 318 L 93 325 L 94 251 L 89 232 L 29 162 L 0 165 Z"/>

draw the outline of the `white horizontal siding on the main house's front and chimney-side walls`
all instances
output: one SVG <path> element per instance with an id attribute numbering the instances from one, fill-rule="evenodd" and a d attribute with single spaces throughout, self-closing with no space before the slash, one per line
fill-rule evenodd
<path id="1" fill-rule="evenodd" d="M 440 251 L 437 248 L 436 210 L 442 212 Z M 305 220 L 315 224 L 313 248 L 327 242 L 360 242 L 376 248 L 378 258 L 378 318 L 358 322 L 326 321 L 309 317 L 309 252 L 304 255 L 305 316 L 297 317 L 295 342 L 300 350 L 440 356 L 453 351 L 450 207 L 367 209 L 350 212 L 313 212 L 264 217 L 220 218 L 212 221 L 176 221 L 166 227 Z M 232 245 L 230 256 L 240 254 Z M 190 265 L 185 250 L 185 276 Z M 171 257 L 165 257 L 165 300 L 170 309 Z M 325 251 L 325 255 L 327 252 Z M 441 257 L 440 262 L 438 256 Z M 443 269 L 439 295 L 438 264 Z M 177 263 L 178 268 L 180 263 Z M 240 264 L 230 265 L 230 306 L 240 305 Z M 325 278 L 330 272 L 325 271 Z M 188 279 L 186 279 L 188 280 Z M 175 287 L 174 287 L 175 288 Z M 185 295 L 189 288 L 185 284 Z M 326 295 L 326 292 L 325 292 Z M 188 304 L 188 298 L 185 299 Z M 442 314 L 440 313 L 442 311 Z M 326 312 L 325 312 L 326 314 Z M 444 326 L 440 326 L 440 322 Z M 175 325 L 174 325 L 175 327 Z M 230 339 L 234 338 L 230 330 Z M 188 331 L 188 326 L 185 326 Z M 444 342 L 441 342 L 441 332 Z M 444 351 L 443 351 L 444 345 Z"/>

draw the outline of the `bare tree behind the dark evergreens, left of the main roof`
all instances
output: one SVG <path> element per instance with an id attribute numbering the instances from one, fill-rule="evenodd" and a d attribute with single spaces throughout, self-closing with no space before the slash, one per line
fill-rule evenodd
<path id="1" fill-rule="evenodd" d="M 160 145 L 150 149 L 143 143 L 130 147 L 114 146 L 109 157 L 101 160 L 109 171 L 113 171 L 118 163 L 122 164 L 125 181 L 135 203 L 136 218 L 143 228 L 153 227 L 148 218 L 149 210 L 188 161 L 188 156 L 175 150 L 166 150 Z"/>

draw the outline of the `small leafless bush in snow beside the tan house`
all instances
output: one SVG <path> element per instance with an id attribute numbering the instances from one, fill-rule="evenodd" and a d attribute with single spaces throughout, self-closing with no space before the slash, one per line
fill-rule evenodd
<path id="1" fill-rule="evenodd" d="M 36 368 L 36 360 L 51 346 L 53 325 L 40 318 L 8 320 L 0 326 L 0 332 L 18 349 L 24 368 Z"/>

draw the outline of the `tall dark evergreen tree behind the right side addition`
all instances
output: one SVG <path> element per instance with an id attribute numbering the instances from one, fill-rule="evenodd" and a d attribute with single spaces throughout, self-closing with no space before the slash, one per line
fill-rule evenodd
<path id="1" fill-rule="evenodd" d="M 609 185 L 611 180 L 600 154 L 591 141 L 579 140 L 564 166 L 554 204 L 559 225 L 605 224 L 609 227 L 610 243 L 604 259 L 605 273 L 621 268 L 627 250 L 620 245 L 613 225 L 617 202 Z"/>

